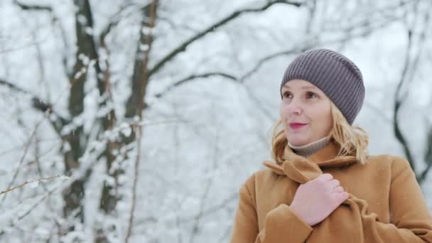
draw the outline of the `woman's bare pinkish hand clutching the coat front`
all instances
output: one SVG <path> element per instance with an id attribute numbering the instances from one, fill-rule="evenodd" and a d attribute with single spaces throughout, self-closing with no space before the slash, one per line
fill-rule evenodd
<path id="1" fill-rule="evenodd" d="M 323 174 L 300 185 L 290 207 L 312 227 L 325 220 L 348 197 L 338 180 L 330 174 Z"/>

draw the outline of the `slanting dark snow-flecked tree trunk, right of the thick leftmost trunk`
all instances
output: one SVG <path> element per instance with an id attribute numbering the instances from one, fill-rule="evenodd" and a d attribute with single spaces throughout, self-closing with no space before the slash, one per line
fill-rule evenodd
<path id="1" fill-rule="evenodd" d="M 154 4 L 154 5 L 153 5 Z M 145 28 L 152 28 L 156 20 L 156 4 L 154 1 L 148 4 L 142 9 L 143 21 L 141 21 L 141 28 L 139 29 L 139 43 L 136 47 L 136 58 L 134 63 L 134 73 L 131 80 L 131 95 L 126 103 L 126 114 L 125 117 L 128 121 L 133 121 L 134 117 L 138 117 L 141 120 L 141 112 L 144 109 L 144 96 L 146 93 L 146 87 L 148 85 L 148 54 L 150 52 L 152 36 L 151 33 L 144 31 Z M 152 6 L 153 5 L 153 6 Z M 104 130 L 112 127 L 112 121 L 104 119 L 102 121 Z M 112 154 L 112 149 L 120 148 L 131 144 L 136 140 L 136 124 L 131 124 L 131 134 L 129 136 L 122 136 L 119 143 L 111 143 L 107 146 L 107 151 L 104 153 L 107 166 L 107 174 L 112 178 L 114 183 L 104 183 L 102 188 L 102 198 L 99 203 L 99 208 L 104 215 L 110 215 L 112 217 L 118 217 L 116 210 L 117 202 L 121 200 L 121 183 L 119 183 L 119 176 L 124 174 L 124 161 L 129 158 L 128 152 L 125 151 L 124 158 L 121 161 L 116 161 L 116 157 Z M 115 164 L 120 163 L 120 164 Z M 113 168 L 114 166 L 114 168 Z M 127 189 L 126 189 L 127 190 Z M 99 226 L 102 222 L 99 222 Z M 107 230 L 115 232 L 115 225 L 105 225 L 104 229 L 97 229 L 96 239 L 97 243 L 109 242 L 107 239 Z"/>

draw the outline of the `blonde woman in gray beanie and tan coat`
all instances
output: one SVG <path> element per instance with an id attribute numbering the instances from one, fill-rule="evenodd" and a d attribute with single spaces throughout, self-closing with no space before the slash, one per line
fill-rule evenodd
<path id="1" fill-rule="evenodd" d="M 239 190 L 232 243 L 432 242 L 432 217 L 408 161 L 368 156 L 352 122 L 362 74 L 332 50 L 302 53 L 281 82 L 274 162 Z M 282 125 L 282 129 L 278 129 Z"/>

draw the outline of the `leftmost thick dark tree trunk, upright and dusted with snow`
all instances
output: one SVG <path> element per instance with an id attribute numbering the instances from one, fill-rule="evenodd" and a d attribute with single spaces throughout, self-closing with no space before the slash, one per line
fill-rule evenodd
<path id="1" fill-rule="evenodd" d="M 70 120 L 80 116 L 84 111 L 85 90 L 87 80 L 88 59 L 92 57 L 92 36 L 86 32 L 86 28 L 92 27 L 90 4 L 87 0 L 74 0 L 77 7 L 75 13 L 75 32 L 77 37 L 77 53 L 75 54 L 75 65 L 70 76 L 70 97 L 68 109 Z M 85 16 L 85 18 L 82 18 Z M 83 21 L 83 19 L 85 21 Z M 84 134 L 82 124 L 73 126 L 71 131 L 64 136 L 66 151 L 64 152 L 65 174 L 71 175 L 80 167 L 79 159 L 85 151 L 87 136 Z M 63 190 L 63 216 L 65 225 L 62 234 L 68 234 L 75 230 L 76 224 L 84 222 L 84 205 L 82 199 L 85 197 L 85 182 L 90 177 L 87 173 L 84 178 L 76 180 L 69 188 Z"/>

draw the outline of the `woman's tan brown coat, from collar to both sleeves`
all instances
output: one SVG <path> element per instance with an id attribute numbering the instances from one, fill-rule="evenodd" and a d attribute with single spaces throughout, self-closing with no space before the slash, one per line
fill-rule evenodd
<path id="1" fill-rule="evenodd" d="M 232 243 L 431 242 L 432 217 L 408 161 L 396 156 L 335 158 L 328 146 L 303 158 L 286 149 L 282 165 L 264 161 L 239 190 Z M 323 222 L 310 227 L 289 205 L 299 183 L 330 173 L 350 193 Z"/>

